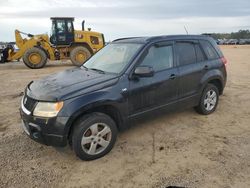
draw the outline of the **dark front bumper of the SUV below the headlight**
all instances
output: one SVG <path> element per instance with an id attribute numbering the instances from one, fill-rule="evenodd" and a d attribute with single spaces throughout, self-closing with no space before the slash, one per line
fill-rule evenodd
<path id="1" fill-rule="evenodd" d="M 65 125 L 68 117 L 40 118 L 27 114 L 23 106 L 20 108 L 22 128 L 36 142 L 48 146 L 66 146 L 67 133 Z"/>

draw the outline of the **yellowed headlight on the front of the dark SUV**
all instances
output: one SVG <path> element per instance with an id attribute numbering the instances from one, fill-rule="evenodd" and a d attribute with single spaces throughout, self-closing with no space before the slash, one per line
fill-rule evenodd
<path id="1" fill-rule="evenodd" d="M 55 117 L 62 107 L 63 102 L 38 102 L 33 115 L 40 117 Z"/>

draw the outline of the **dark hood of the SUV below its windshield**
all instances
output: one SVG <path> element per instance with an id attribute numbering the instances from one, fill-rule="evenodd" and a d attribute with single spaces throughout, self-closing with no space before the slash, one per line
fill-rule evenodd
<path id="1" fill-rule="evenodd" d="M 111 86 L 117 81 L 117 75 L 74 68 L 32 81 L 26 93 L 39 101 L 60 101 Z"/>

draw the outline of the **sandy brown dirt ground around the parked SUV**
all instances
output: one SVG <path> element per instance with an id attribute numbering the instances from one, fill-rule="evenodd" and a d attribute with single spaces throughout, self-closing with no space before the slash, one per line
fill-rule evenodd
<path id="1" fill-rule="evenodd" d="M 215 113 L 189 109 L 138 122 L 90 162 L 32 141 L 20 127 L 24 87 L 71 64 L 0 65 L 0 187 L 250 187 L 250 46 L 222 50 L 228 82 Z"/>

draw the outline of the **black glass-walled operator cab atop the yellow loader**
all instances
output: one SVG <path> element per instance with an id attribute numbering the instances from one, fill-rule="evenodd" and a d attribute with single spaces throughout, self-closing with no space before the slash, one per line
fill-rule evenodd
<path id="1" fill-rule="evenodd" d="M 69 45 L 74 42 L 74 18 L 53 17 L 50 42 L 53 45 Z"/>

